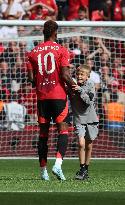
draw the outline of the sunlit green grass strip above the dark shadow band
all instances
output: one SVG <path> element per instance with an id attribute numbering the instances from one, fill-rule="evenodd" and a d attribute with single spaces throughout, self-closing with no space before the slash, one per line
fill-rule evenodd
<path id="1" fill-rule="evenodd" d="M 48 162 L 50 181 L 42 181 L 37 160 L 0 160 L 0 191 L 3 192 L 115 192 L 125 191 L 125 160 L 92 160 L 89 181 L 75 181 L 78 160 L 64 160 L 67 181 L 58 181 L 51 173 L 54 161 Z"/>

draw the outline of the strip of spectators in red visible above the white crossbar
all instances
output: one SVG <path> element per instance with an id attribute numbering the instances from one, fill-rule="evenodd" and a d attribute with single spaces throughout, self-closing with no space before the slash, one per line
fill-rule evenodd
<path id="1" fill-rule="evenodd" d="M 125 20 L 124 0 L 1 0 L 1 19 Z"/>

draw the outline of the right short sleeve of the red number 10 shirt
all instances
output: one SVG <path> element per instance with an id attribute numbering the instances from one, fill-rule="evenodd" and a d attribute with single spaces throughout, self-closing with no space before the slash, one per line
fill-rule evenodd
<path id="1" fill-rule="evenodd" d="M 62 47 L 61 66 L 62 67 L 69 66 L 69 60 L 70 60 L 69 51 L 65 47 Z"/>

